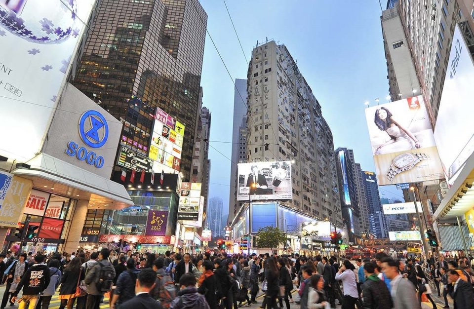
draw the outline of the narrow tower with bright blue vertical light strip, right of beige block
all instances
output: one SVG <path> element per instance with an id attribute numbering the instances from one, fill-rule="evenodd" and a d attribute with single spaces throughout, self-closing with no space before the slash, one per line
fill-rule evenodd
<path id="1" fill-rule="evenodd" d="M 339 179 L 339 195 L 341 201 L 342 215 L 349 232 L 349 241 L 357 242 L 360 237 L 360 209 L 358 203 L 357 175 L 354 151 L 347 148 L 338 148 L 335 151 L 337 157 L 337 172 Z"/>

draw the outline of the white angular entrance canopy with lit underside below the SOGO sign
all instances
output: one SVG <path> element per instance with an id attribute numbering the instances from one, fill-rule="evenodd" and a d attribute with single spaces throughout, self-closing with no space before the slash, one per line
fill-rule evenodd
<path id="1" fill-rule="evenodd" d="M 38 190 L 89 200 L 90 208 L 122 209 L 134 204 L 123 185 L 51 155 L 38 154 L 27 164 L 29 169 L 16 168 L 12 173 L 31 179 Z"/>

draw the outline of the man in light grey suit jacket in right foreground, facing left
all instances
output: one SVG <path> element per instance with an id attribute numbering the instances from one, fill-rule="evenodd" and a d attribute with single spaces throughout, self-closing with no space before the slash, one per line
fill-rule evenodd
<path id="1" fill-rule="evenodd" d="M 382 260 L 382 270 L 385 276 L 391 280 L 390 293 L 394 302 L 394 309 L 420 309 L 415 286 L 410 281 L 403 279 L 398 272 L 398 261 L 394 261 L 392 258 L 384 258 Z"/>

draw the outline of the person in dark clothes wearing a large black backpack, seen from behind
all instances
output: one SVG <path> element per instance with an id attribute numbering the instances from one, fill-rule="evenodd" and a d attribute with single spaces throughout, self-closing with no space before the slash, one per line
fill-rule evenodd
<path id="1" fill-rule="evenodd" d="M 87 270 L 84 282 L 87 285 L 86 309 L 99 309 L 99 304 L 105 292 L 112 288 L 115 269 L 109 262 L 110 250 L 102 248 L 97 263 Z"/>

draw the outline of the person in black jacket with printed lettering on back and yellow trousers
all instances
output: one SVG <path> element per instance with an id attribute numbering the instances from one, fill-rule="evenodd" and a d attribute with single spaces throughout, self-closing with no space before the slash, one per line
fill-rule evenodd
<path id="1" fill-rule="evenodd" d="M 12 293 L 13 297 L 11 301 L 14 303 L 16 296 L 23 288 L 23 296 L 19 302 L 20 305 L 18 309 L 25 309 L 28 303 L 30 303 L 29 308 L 35 308 L 40 299 L 40 294 L 49 285 L 49 268 L 43 261 L 43 255 L 38 254 L 35 256 L 35 263 L 29 267 L 23 277 L 21 277 L 15 292 Z"/>

